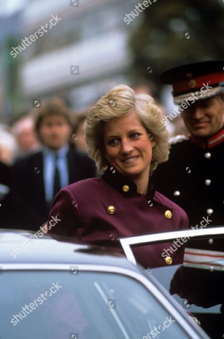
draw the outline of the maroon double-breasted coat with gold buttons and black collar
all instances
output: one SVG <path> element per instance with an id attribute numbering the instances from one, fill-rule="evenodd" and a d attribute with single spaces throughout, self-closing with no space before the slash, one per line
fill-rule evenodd
<path id="1" fill-rule="evenodd" d="M 138 193 L 131 180 L 111 169 L 102 178 L 79 181 L 57 194 L 48 219 L 50 233 L 113 246 L 119 237 L 188 228 L 187 214 L 178 205 L 151 186 L 146 195 Z M 142 246 L 133 252 L 145 267 L 163 266 L 161 254 L 170 245 Z M 172 255 L 173 264 L 182 263 L 183 256 L 181 247 Z"/>

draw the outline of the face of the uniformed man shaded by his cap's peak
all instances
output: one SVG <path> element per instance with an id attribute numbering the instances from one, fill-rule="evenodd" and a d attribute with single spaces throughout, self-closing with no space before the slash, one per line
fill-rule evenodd
<path id="1" fill-rule="evenodd" d="M 224 102 L 219 95 L 195 102 L 181 113 L 188 132 L 197 138 L 206 138 L 222 128 Z"/>

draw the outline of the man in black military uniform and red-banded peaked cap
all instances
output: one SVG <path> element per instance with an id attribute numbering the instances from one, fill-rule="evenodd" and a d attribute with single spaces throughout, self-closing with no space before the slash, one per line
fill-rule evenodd
<path id="1" fill-rule="evenodd" d="M 151 181 L 187 212 L 192 228 L 202 228 L 205 219 L 209 226 L 224 225 L 224 61 L 176 67 L 160 80 L 173 85 L 189 139 L 177 138 Z"/>

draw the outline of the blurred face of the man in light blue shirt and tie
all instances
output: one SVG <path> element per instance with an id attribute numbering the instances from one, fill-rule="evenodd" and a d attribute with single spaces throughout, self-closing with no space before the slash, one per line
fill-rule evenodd
<path id="1" fill-rule="evenodd" d="M 71 126 L 64 116 L 51 115 L 43 118 L 39 137 L 43 145 L 52 150 L 59 150 L 66 145 L 71 135 Z"/>

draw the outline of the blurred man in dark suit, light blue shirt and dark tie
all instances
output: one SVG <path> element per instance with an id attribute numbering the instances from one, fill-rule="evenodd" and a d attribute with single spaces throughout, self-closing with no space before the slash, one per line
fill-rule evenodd
<path id="1" fill-rule="evenodd" d="M 72 123 L 63 101 L 53 98 L 35 109 L 35 130 L 42 150 L 18 159 L 12 168 L 14 228 L 37 230 L 48 217 L 57 192 L 95 175 L 89 157 L 69 146 Z"/>

